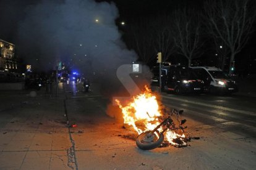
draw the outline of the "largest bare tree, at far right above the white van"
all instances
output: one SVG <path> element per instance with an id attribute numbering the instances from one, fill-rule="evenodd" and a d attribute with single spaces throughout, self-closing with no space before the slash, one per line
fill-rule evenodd
<path id="1" fill-rule="evenodd" d="M 245 46 L 255 20 L 255 1 L 210 0 L 205 3 L 205 14 L 210 34 L 215 42 L 222 41 L 229 49 L 229 74 L 235 55 Z"/>

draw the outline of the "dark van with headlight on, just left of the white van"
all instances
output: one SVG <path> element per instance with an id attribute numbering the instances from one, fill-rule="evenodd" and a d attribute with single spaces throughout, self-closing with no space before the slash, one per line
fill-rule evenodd
<path id="1" fill-rule="evenodd" d="M 162 84 L 164 90 L 175 94 L 201 94 L 203 92 L 203 81 L 188 67 L 173 65 L 169 68 L 166 83 Z"/>

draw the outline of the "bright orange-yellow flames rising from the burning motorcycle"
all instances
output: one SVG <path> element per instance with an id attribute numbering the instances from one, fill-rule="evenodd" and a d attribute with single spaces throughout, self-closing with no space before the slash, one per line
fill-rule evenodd
<path id="1" fill-rule="evenodd" d="M 117 105 L 122 110 L 124 124 L 132 126 L 138 134 L 155 129 L 161 123 L 159 118 L 163 116 L 156 96 L 151 93 L 147 86 L 145 86 L 145 89 L 145 92 L 134 96 L 132 101 L 127 103 L 126 106 L 122 106 L 121 102 L 116 100 Z M 166 131 L 164 132 L 164 138 L 168 140 L 169 144 L 174 146 L 186 145 L 186 142 L 182 140 L 185 138 L 184 134 Z"/>

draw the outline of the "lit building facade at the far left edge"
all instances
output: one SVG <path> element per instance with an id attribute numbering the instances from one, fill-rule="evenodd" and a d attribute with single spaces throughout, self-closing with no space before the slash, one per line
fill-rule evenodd
<path id="1" fill-rule="evenodd" d="M 14 44 L 0 39 L 0 70 L 17 71 L 14 49 Z"/>

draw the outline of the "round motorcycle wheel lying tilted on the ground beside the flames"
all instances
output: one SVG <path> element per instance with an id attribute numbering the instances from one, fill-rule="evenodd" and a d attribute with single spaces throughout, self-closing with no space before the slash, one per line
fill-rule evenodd
<path id="1" fill-rule="evenodd" d="M 137 146 L 142 150 L 151 150 L 159 147 L 164 140 L 164 135 L 159 132 L 150 134 L 151 131 L 146 131 L 140 134 L 136 139 Z"/>

